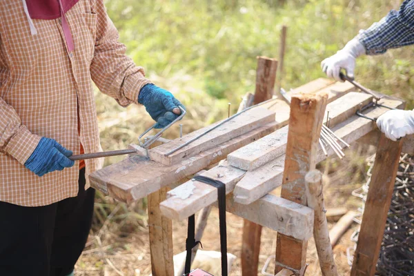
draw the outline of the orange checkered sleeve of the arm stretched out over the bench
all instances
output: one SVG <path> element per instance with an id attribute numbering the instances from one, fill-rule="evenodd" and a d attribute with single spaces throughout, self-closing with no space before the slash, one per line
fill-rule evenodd
<path id="1" fill-rule="evenodd" d="M 126 46 L 118 41 L 117 28 L 108 17 L 102 0 L 96 1 L 97 28 L 95 54 L 90 74 L 99 90 L 117 100 L 119 105 L 138 103 L 139 90 L 150 83 L 144 68 L 125 55 Z"/>

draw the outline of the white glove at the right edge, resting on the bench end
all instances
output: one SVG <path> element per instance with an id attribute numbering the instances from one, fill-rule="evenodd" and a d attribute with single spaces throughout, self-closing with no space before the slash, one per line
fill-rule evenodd
<path id="1" fill-rule="evenodd" d="M 377 126 L 388 139 L 397 141 L 414 134 L 414 111 L 389 110 L 377 119 Z"/>

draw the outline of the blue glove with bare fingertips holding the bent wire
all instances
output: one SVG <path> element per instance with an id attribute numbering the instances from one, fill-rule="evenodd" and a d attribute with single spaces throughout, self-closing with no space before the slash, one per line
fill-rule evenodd
<path id="1" fill-rule="evenodd" d="M 177 119 L 181 114 L 179 106 L 186 109 L 170 92 L 152 83 L 141 88 L 138 102 L 145 106 L 151 118 L 157 122 L 155 128 L 164 128 Z"/>

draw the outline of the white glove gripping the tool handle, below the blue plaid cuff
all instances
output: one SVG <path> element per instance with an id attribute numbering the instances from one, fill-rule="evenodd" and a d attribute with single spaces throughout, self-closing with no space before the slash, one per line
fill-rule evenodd
<path id="1" fill-rule="evenodd" d="M 355 59 L 364 55 L 366 52 L 365 47 L 359 42 L 358 39 L 352 39 L 346 46 L 337 51 L 332 57 L 324 59 L 321 63 L 322 71 L 330 78 L 337 81 L 344 81 L 339 77 L 341 68 L 346 70 L 346 75 L 353 79 L 355 69 Z"/>

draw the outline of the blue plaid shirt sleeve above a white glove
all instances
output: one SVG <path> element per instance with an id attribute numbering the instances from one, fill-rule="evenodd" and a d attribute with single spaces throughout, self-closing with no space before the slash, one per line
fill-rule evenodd
<path id="1" fill-rule="evenodd" d="M 358 34 L 366 55 L 378 55 L 390 48 L 414 44 L 414 0 L 405 0 L 400 10 L 391 10 L 386 17 Z"/>

